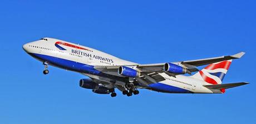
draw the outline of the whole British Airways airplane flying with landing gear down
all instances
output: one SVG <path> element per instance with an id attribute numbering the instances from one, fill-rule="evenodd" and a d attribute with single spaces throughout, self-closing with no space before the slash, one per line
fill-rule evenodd
<path id="1" fill-rule="evenodd" d="M 222 84 L 232 60 L 241 58 L 244 52 L 232 56 L 141 65 L 93 48 L 48 37 L 24 44 L 23 49 L 43 63 L 43 74 L 49 73 L 49 65 L 81 73 L 89 78 L 81 79 L 80 87 L 98 94 L 111 94 L 111 97 L 117 96 L 115 90 L 130 97 L 138 95 L 140 89 L 163 93 L 225 93 L 228 88 L 248 84 Z M 208 66 L 198 70 L 197 67 L 204 65 Z"/>

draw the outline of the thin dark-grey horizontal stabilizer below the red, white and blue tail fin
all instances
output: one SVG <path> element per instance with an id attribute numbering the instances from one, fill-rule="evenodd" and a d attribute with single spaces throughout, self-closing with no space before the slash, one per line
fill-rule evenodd
<path id="1" fill-rule="evenodd" d="M 204 87 L 214 90 L 221 90 L 221 89 L 228 89 L 233 87 L 238 87 L 242 85 L 247 85 L 249 83 L 247 82 L 239 82 L 239 83 L 225 83 L 225 84 L 219 84 L 219 85 L 204 85 Z"/>

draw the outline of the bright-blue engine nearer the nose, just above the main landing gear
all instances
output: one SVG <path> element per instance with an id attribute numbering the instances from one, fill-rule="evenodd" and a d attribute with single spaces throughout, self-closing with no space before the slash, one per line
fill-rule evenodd
<path id="1" fill-rule="evenodd" d="M 120 66 L 118 68 L 118 74 L 121 76 L 126 76 L 126 77 L 139 77 L 140 76 L 140 72 L 126 67 L 126 66 Z"/>

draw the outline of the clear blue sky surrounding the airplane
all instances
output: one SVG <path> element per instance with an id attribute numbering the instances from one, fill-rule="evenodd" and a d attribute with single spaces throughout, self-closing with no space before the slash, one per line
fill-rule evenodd
<path id="1" fill-rule="evenodd" d="M 0 123 L 255 123 L 254 1 L 1 1 Z M 22 44 L 59 38 L 137 63 L 247 52 L 224 83 L 250 82 L 224 95 L 141 90 L 97 95 L 85 76 L 43 65 Z"/>

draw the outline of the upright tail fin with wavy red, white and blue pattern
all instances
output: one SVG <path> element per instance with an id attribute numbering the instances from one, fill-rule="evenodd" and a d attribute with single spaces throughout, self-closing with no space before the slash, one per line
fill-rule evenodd
<path id="1" fill-rule="evenodd" d="M 203 70 L 199 71 L 191 77 L 205 81 L 213 85 L 221 84 L 223 78 L 225 77 L 229 70 L 231 62 L 232 59 L 228 61 L 221 61 L 210 64 L 209 66 L 205 67 Z"/>

